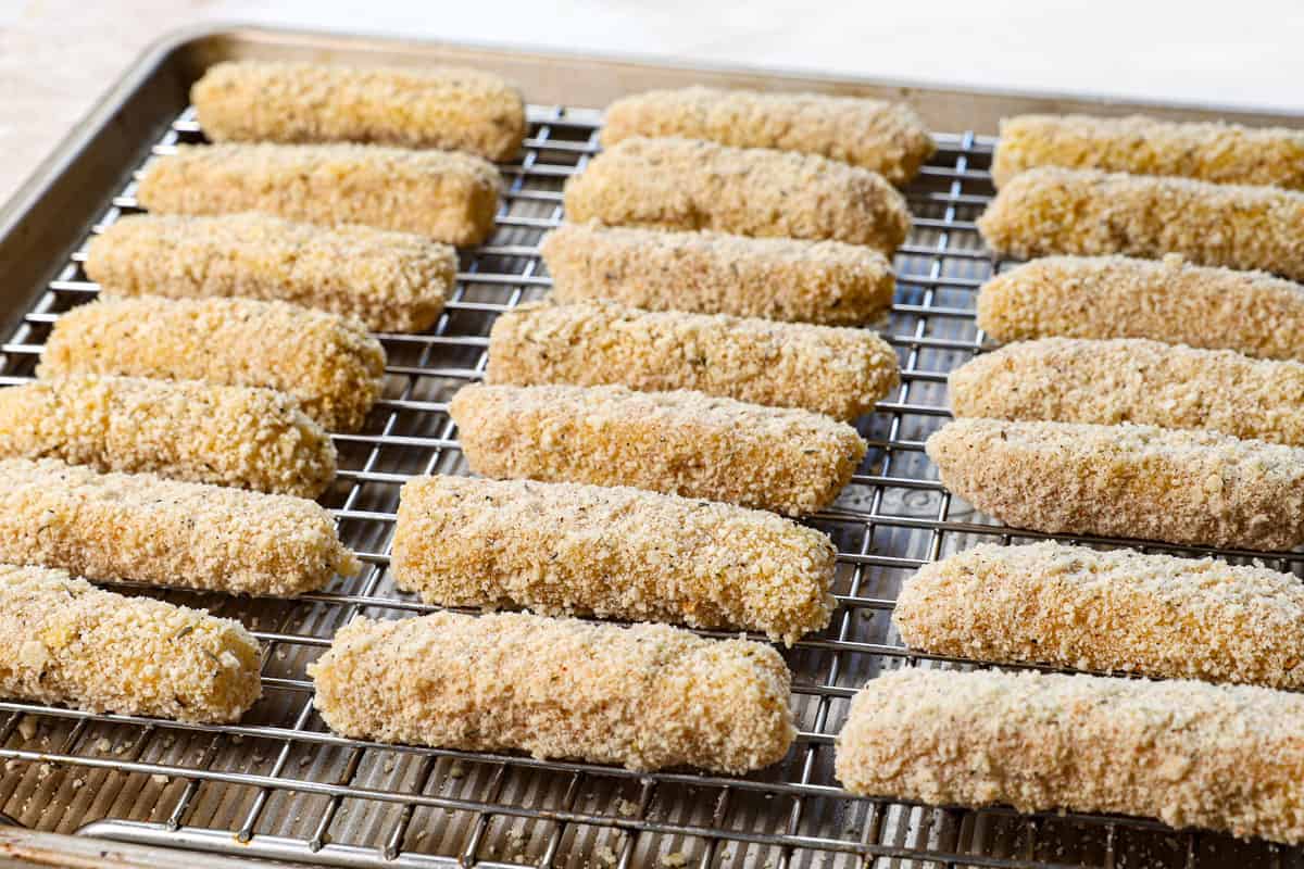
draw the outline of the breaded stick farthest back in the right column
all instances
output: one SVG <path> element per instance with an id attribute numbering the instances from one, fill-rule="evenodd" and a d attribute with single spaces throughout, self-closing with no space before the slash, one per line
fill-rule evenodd
<path id="1" fill-rule="evenodd" d="M 1000 122 L 996 186 L 1039 165 L 1304 189 L 1304 133 L 1133 115 L 1017 115 Z"/>

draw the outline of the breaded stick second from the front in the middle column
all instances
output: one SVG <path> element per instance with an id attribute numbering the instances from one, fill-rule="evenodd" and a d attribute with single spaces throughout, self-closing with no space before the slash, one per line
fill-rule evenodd
<path id="1" fill-rule="evenodd" d="M 760 631 L 828 625 L 837 552 L 773 513 L 639 489 L 422 477 L 403 486 L 394 581 L 441 606 Z"/>

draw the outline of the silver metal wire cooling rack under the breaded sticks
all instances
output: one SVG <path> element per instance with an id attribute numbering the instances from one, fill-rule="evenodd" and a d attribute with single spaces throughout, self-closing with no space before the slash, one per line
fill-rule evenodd
<path id="1" fill-rule="evenodd" d="M 497 232 L 463 254 L 456 292 L 429 334 L 379 336 L 390 357 L 385 395 L 363 433 L 335 435 L 339 479 L 322 500 L 368 565 L 364 575 L 296 601 L 124 584 L 241 619 L 263 644 L 263 700 L 231 726 L 0 702 L 0 810 L 44 830 L 347 866 L 1304 862 L 1297 851 L 1133 818 L 850 799 L 833 779 L 835 735 L 867 679 L 901 666 L 965 666 L 902 648 L 889 623 L 902 578 L 978 541 L 1015 539 L 953 500 L 922 453 L 948 417 L 947 371 L 982 348 L 974 293 L 998 267 L 973 223 L 992 193 L 992 142 L 971 133 L 938 135 L 939 152 L 908 190 L 914 228 L 883 324 L 902 383 L 862 420 L 870 453 L 852 485 L 811 520 L 838 548 L 838 610 L 823 634 L 785 650 L 801 728 L 788 758 L 747 778 L 640 775 L 330 734 L 312 710 L 304 667 L 356 614 L 433 608 L 395 591 L 386 575 L 398 489 L 416 473 L 467 473 L 446 403 L 481 377 L 493 318 L 546 291 L 537 241 L 562 218 L 562 182 L 596 152 L 599 113 L 531 107 L 529 117 L 523 158 L 502 167 L 509 189 Z M 184 141 L 202 141 L 189 111 L 154 152 Z M 93 232 L 134 211 L 133 193 L 129 184 Z M 81 270 L 83 254 L 85 245 L 0 347 L 4 383 L 30 378 L 50 324 L 98 292 Z M 1304 555 L 1274 559 L 1292 569 Z"/>

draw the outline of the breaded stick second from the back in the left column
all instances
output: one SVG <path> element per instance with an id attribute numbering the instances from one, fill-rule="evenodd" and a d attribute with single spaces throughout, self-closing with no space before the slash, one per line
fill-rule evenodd
<path id="1" fill-rule="evenodd" d="M 493 163 L 469 154 L 235 143 L 176 146 L 145 167 L 136 197 L 159 214 L 263 211 L 477 245 L 493 232 L 501 189 Z"/>

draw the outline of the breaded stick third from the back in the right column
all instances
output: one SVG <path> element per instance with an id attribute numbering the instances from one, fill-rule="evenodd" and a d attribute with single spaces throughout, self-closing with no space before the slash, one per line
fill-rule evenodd
<path id="1" fill-rule="evenodd" d="M 1266 360 L 1304 360 L 1304 287 L 1261 271 L 1193 266 L 1179 254 L 1046 257 L 978 293 L 998 341 L 1149 337 Z"/>

